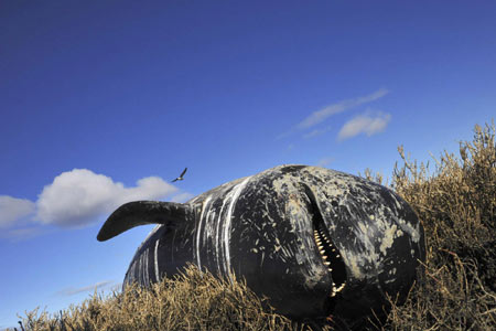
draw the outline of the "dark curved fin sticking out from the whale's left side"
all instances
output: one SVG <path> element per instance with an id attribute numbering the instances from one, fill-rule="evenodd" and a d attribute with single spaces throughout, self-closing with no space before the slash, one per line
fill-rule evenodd
<path id="1" fill-rule="evenodd" d="M 134 201 L 118 207 L 98 232 L 99 242 L 108 241 L 134 226 L 147 224 L 175 224 L 192 214 L 190 205 L 162 201 Z"/>

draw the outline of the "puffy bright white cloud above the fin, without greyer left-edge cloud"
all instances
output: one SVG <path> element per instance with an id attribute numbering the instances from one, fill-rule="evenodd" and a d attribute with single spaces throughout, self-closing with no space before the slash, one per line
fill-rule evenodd
<path id="1" fill-rule="evenodd" d="M 80 227 L 109 214 L 122 203 L 158 200 L 177 189 L 158 177 L 143 178 L 134 188 L 125 188 L 111 178 L 87 169 L 74 169 L 57 175 L 36 202 L 36 220 L 44 224 Z"/>

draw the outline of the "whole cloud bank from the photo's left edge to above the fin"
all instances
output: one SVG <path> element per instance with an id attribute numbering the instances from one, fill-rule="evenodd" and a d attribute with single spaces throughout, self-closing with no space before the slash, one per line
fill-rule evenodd
<path id="1" fill-rule="evenodd" d="M 57 175 L 36 202 L 0 195 L 0 238 L 14 242 L 50 232 L 31 221 L 62 227 L 83 227 L 108 216 L 119 205 L 137 200 L 161 200 L 177 193 L 177 188 L 159 177 L 140 179 L 132 188 L 87 169 L 74 169 Z M 174 202 L 193 197 L 187 192 L 172 196 Z M 171 197 L 169 197 L 171 199 Z"/>

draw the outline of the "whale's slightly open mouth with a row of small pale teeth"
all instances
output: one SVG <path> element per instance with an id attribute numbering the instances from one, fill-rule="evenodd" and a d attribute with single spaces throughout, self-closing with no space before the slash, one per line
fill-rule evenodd
<path id="1" fill-rule="evenodd" d="M 346 287 L 346 266 L 339 250 L 330 238 L 313 192 L 311 192 L 310 188 L 306 188 L 305 191 L 306 196 L 310 200 L 310 210 L 313 215 L 312 225 L 315 246 L 322 258 L 322 263 L 327 267 L 327 270 L 331 274 L 333 287 L 330 297 L 334 298 Z"/>

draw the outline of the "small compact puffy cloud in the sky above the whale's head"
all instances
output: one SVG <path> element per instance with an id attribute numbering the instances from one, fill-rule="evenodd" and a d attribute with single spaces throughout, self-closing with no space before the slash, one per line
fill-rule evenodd
<path id="1" fill-rule="evenodd" d="M 368 114 L 358 115 L 341 128 L 339 134 L 337 134 L 337 139 L 342 141 L 358 136 L 359 134 L 365 134 L 370 137 L 384 131 L 390 120 L 391 115 L 384 113 L 378 113 L 374 117 Z"/>

